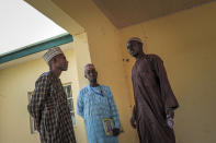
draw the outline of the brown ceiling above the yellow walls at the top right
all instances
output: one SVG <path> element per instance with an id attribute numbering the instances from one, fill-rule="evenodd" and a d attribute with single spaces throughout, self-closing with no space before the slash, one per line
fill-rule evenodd
<path id="1" fill-rule="evenodd" d="M 215 0 L 93 0 L 118 28 L 197 7 Z"/>

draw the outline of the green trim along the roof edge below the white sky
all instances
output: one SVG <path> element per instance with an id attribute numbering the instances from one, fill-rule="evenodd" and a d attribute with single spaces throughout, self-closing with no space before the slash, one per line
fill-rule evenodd
<path id="1" fill-rule="evenodd" d="M 39 52 L 39 51 L 43 51 L 43 50 L 46 50 L 56 46 L 68 44 L 71 41 L 73 41 L 72 36 L 70 34 L 64 34 L 64 35 L 60 35 L 60 36 L 57 36 L 57 37 L 54 37 L 54 38 L 50 38 L 41 43 L 36 43 L 33 45 L 23 47 L 21 49 L 18 49 L 15 51 L 11 51 L 11 52 L 0 56 L 0 64 L 29 56 L 29 55 Z"/>

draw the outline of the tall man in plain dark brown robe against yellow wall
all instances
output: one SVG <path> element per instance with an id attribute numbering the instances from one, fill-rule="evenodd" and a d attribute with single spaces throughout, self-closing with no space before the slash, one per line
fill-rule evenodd
<path id="1" fill-rule="evenodd" d="M 136 58 L 132 70 L 135 106 L 130 123 L 137 128 L 140 143 L 175 143 L 174 109 L 179 104 L 172 93 L 162 60 L 143 51 L 141 39 L 127 41 Z"/>

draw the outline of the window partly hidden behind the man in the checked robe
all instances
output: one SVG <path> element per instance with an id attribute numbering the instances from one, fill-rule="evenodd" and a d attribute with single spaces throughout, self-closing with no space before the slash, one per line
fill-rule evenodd
<path id="1" fill-rule="evenodd" d="M 64 84 L 62 87 L 64 87 L 64 91 L 65 91 L 65 93 L 67 95 L 68 107 L 70 109 L 72 124 L 76 126 L 75 107 L 73 107 L 73 97 L 72 97 L 71 84 Z M 31 100 L 32 94 L 33 94 L 33 92 L 29 92 L 27 93 L 29 103 Z M 30 127 L 31 127 L 31 133 L 36 133 L 37 132 L 35 130 L 34 119 L 31 116 L 30 116 Z"/>

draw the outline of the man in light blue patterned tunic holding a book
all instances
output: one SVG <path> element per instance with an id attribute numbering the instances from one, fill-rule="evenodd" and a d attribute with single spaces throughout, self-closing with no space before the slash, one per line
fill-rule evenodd
<path id="1" fill-rule="evenodd" d="M 98 72 L 91 63 L 84 67 L 84 76 L 90 85 L 79 92 L 77 112 L 84 119 L 89 143 L 118 143 L 121 124 L 110 87 L 96 82 Z M 111 135 L 105 133 L 104 119 L 111 119 L 114 122 L 113 128 L 107 127 L 112 130 Z"/>

